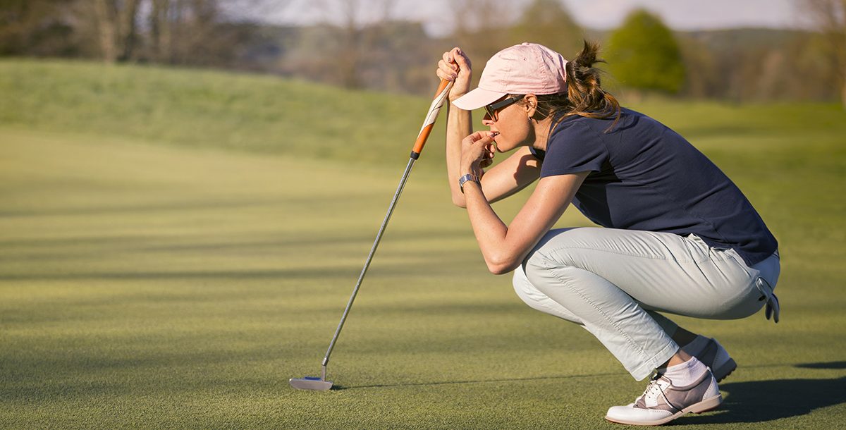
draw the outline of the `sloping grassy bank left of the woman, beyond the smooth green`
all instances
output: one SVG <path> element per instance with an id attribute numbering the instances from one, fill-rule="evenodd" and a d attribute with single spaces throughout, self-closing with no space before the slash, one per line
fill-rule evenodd
<path id="1" fill-rule="evenodd" d="M 269 76 L 30 60 L 0 61 L 0 92 L 3 124 L 370 162 L 410 151 L 428 108 Z"/>

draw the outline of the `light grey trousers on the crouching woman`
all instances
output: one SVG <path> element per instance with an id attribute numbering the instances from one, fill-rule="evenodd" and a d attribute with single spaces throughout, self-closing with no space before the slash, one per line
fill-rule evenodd
<path id="1" fill-rule="evenodd" d="M 514 289 L 538 311 L 586 328 L 640 380 L 678 350 L 678 326 L 657 311 L 748 317 L 765 303 L 757 278 L 775 288 L 779 272 L 777 254 L 748 267 L 694 234 L 554 229 L 514 271 Z"/>

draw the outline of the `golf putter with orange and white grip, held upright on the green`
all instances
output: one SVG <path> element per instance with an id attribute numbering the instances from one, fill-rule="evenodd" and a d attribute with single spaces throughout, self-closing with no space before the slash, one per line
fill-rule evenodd
<path id="1" fill-rule="evenodd" d="M 355 288 L 353 289 L 353 294 L 349 296 L 347 307 L 343 310 L 341 322 L 338 322 L 338 328 L 335 329 L 335 335 L 332 336 L 332 342 L 329 343 L 329 349 L 326 351 L 326 356 L 323 357 L 323 364 L 321 365 L 321 376 L 291 378 L 291 386 L 295 389 L 326 391 L 327 389 L 332 388 L 332 381 L 326 380 L 326 367 L 327 364 L 329 364 L 329 356 L 332 354 L 332 349 L 335 347 L 335 342 L 338 340 L 338 334 L 341 334 L 343 322 L 347 320 L 347 315 L 349 315 L 349 308 L 353 306 L 355 295 L 359 293 L 361 281 L 364 280 L 365 273 L 367 273 L 367 267 L 370 267 L 371 260 L 373 260 L 373 255 L 376 254 L 376 248 L 379 246 L 379 242 L 382 240 L 382 234 L 385 233 L 385 227 L 387 226 L 388 220 L 391 219 L 393 208 L 397 206 L 397 200 L 399 199 L 399 195 L 403 192 L 403 188 L 405 187 L 405 181 L 409 179 L 411 168 L 415 165 L 415 161 L 417 160 L 417 158 L 420 157 L 420 152 L 423 152 L 423 146 L 426 145 L 426 140 L 429 138 L 429 134 L 431 133 L 432 127 L 434 127 L 435 125 L 437 113 L 441 111 L 443 102 L 447 98 L 447 93 L 449 92 L 449 88 L 452 87 L 452 85 L 452 81 L 441 80 L 441 85 L 438 85 L 437 91 L 435 91 L 435 99 L 431 102 L 431 106 L 429 107 L 429 113 L 426 113 L 426 120 L 423 121 L 423 127 L 420 128 L 420 134 L 417 135 L 417 141 L 415 141 L 414 149 L 411 150 L 409 164 L 405 167 L 405 172 L 403 173 L 402 179 L 399 179 L 397 191 L 393 194 L 393 199 L 391 200 L 390 206 L 387 207 L 387 214 L 385 214 L 385 219 L 382 220 L 382 227 L 380 227 L 379 232 L 376 233 L 376 240 L 373 241 L 373 246 L 371 247 L 370 254 L 368 254 L 367 260 L 365 261 L 365 267 L 361 269 L 359 280 L 355 283 Z"/>

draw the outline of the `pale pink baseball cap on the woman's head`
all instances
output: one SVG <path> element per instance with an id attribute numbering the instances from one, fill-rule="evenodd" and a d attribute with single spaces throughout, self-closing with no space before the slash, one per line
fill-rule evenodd
<path id="1" fill-rule="evenodd" d="M 453 106 L 470 111 L 507 94 L 541 96 L 567 91 L 566 64 L 561 54 L 537 43 L 507 47 L 487 60 L 479 86 L 457 98 Z"/>

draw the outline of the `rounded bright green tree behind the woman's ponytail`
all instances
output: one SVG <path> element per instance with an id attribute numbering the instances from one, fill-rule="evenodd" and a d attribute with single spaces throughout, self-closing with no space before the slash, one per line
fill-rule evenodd
<path id="1" fill-rule="evenodd" d="M 608 40 L 608 69 L 621 85 L 677 93 L 684 85 L 684 61 L 673 32 L 660 18 L 635 10 Z"/>

